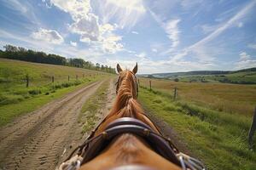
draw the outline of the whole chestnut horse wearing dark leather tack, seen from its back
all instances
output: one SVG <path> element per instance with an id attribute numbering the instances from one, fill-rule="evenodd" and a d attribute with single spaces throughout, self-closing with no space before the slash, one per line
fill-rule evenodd
<path id="1" fill-rule="evenodd" d="M 188 162 L 194 159 L 181 154 L 160 133 L 137 101 L 137 64 L 132 71 L 123 70 L 118 64 L 117 71 L 117 96 L 108 116 L 78 147 L 77 156 L 71 158 L 72 153 L 60 169 L 72 169 L 71 165 L 81 170 L 187 169 Z M 203 169 L 200 161 L 193 162 L 194 167 L 201 167 L 194 169 Z M 189 168 L 193 169 L 191 165 Z"/>

